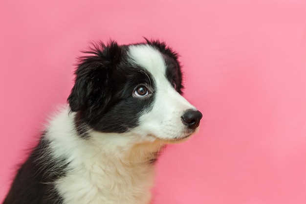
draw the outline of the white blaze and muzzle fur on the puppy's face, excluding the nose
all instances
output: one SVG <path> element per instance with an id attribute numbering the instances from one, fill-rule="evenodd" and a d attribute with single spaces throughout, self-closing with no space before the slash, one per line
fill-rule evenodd
<path id="1" fill-rule="evenodd" d="M 153 109 L 141 115 L 140 125 L 133 132 L 167 142 L 190 135 L 181 121 L 181 116 L 186 110 L 196 108 L 175 91 L 166 78 L 166 65 L 162 54 L 150 45 L 130 46 L 129 54 L 134 63 L 151 73 L 156 84 Z"/>

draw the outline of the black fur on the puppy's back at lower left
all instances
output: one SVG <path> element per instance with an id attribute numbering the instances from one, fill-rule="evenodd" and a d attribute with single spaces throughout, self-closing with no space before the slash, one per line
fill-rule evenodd
<path id="1" fill-rule="evenodd" d="M 44 133 L 45 134 L 45 133 Z M 65 176 L 67 163 L 53 160 L 48 153 L 49 142 L 44 138 L 22 164 L 3 204 L 62 204 L 54 190 L 54 181 Z"/>

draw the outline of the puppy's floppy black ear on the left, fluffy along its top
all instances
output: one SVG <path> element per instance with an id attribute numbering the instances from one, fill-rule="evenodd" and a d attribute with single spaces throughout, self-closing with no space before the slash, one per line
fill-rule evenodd
<path id="1" fill-rule="evenodd" d="M 87 56 L 79 58 L 75 84 L 67 99 L 72 112 L 94 112 L 105 107 L 111 98 L 111 74 L 120 60 L 121 48 L 114 41 L 108 45 L 92 44 Z M 96 106 L 96 107 L 95 107 Z"/>

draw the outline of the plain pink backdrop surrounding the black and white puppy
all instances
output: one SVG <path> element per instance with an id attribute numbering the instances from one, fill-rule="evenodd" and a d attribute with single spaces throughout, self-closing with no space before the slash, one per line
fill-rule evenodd
<path id="1" fill-rule="evenodd" d="M 181 55 L 200 133 L 165 151 L 154 204 L 306 204 L 306 1 L 0 0 L 0 201 L 91 40 Z"/>

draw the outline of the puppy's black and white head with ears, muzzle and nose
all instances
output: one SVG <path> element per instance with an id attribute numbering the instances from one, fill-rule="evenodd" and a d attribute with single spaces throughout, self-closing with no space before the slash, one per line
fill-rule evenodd
<path id="1" fill-rule="evenodd" d="M 197 131 L 202 114 L 180 95 L 177 54 L 164 43 L 100 43 L 86 53 L 68 97 L 80 135 L 90 129 L 173 142 Z"/>

